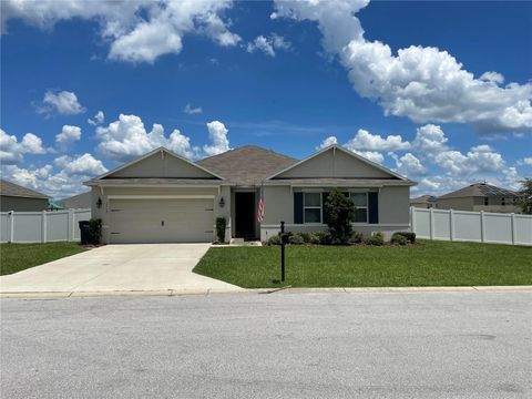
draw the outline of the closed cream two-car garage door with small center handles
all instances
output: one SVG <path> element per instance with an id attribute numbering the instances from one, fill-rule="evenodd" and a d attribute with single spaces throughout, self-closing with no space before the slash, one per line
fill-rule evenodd
<path id="1" fill-rule="evenodd" d="M 213 200 L 111 200 L 111 243 L 213 241 Z"/>

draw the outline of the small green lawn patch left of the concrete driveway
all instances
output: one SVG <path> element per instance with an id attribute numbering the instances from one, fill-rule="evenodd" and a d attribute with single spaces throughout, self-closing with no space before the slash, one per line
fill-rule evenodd
<path id="1" fill-rule="evenodd" d="M 0 244 L 0 275 L 13 274 L 86 250 L 78 243 Z"/>

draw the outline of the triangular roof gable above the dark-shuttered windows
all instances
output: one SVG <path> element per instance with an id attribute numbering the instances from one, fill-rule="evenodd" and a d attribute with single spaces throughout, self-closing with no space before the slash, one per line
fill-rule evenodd
<path id="1" fill-rule="evenodd" d="M 365 157 L 351 153 L 338 145 L 325 150 L 274 174 L 269 178 L 391 178 L 407 181 L 405 177 L 387 170 Z"/>

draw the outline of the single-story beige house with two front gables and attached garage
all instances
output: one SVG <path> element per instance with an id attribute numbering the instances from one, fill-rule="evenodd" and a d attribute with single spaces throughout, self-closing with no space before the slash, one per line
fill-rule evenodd
<path id="1" fill-rule="evenodd" d="M 338 145 L 303 161 L 246 145 L 195 163 L 160 147 L 84 184 L 104 242 L 172 243 L 213 241 L 217 217 L 227 221 L 227 241 L 266 241 L 280 221 L 293 232 L 323 231 L 335 187 L 356 203 L 355 229 L 389 235 L 410 227 L 416 183 Z"/>

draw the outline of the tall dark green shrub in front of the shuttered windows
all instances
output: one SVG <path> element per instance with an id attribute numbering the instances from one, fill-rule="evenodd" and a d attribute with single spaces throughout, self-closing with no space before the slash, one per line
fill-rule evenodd
<path id="1" fill-rule="evenodd" d="M 355 218 L 355 204 L 347 195 L 335 188 L 325 203 L 326 223 L 332 244 L 348 244 L 352 234 L 351 222 Z"/>

